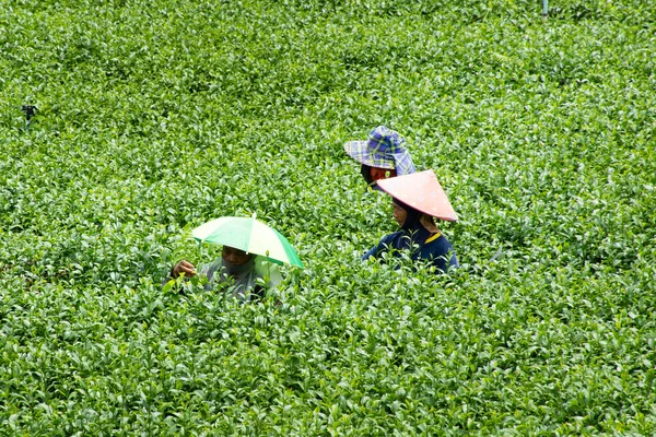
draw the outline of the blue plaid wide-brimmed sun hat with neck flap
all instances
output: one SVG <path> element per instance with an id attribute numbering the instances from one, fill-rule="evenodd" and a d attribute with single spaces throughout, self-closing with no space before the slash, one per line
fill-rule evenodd
<path id="1" fill-rule="evenodd" d="M 353 160 L 370 167 L 396 169 L 397 176 L 414 173 L 414 164 L 405 147 L 406 140 L 398 132 L 378 126 L 367 141 L 349 141 L 344 151 Z"/>

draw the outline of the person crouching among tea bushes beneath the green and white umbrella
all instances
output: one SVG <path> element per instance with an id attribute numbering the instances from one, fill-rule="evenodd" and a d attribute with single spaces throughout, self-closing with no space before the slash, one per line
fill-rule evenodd
<path id="1" fill-rule="evenodd" d="M 169 277 L 176 279 L 180 275 L 186 277 L 197 274 L 207 276 L 206 290 L 212 290 L 213 285 L 229 283 L 227 292 L 242 302 L 249 298 L 261 298 L 265 296 L 265 288 L 258 279 L 269 276 L 268 286 L 276 286 L 281 277 L 278 270 L 272 267 L 265 267 L 262 257 L 254 253 L 246 253 L 244 250 L 230 246 L 223 246 L 221 258 L 213 262 L 199 265 L 199 272 L 196 267 L 187 260 L 181 260 L 171 270 Z M 248 293 L 250 292 L 250 293 Z"/>

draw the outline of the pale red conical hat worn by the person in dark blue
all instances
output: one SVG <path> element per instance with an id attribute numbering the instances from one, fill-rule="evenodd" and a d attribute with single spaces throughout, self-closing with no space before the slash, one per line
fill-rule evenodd
<path id="1" fill-rule="evenodd" d="M 378 187 L 395 199 L 430 216 L 457 222 L 458 214 L 433 170 L 377 180 Z"/>

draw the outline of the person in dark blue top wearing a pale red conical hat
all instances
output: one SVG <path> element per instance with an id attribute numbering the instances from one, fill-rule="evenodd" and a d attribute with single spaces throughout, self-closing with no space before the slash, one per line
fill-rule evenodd
<path id="1" fill-rule="evenodd" d="M 433 170 L 378 180 L 380 189 L 391 196 L 393 216 L 401 231 L 389 234 L 366 252 L 362 259 L 376 258 L 394 249 L 410 249 L 412 260 L 427 260 L 441 272 L 458 268 L 454 248 L 440 232 L 434 217 L 457 221 L 446 193 Z"/>

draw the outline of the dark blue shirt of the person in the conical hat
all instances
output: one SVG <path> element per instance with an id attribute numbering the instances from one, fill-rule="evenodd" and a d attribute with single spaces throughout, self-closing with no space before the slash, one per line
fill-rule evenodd
<path id="1" fill-rule="evenodd" d="M 458 258 L 454 252 L 454 247 L 441 233 L 431 235 L 431 233 L 422 226 L 414 233 L 412 240 L 419 245 L 419 249 L 413 250 L 410 256 L 412 260 L 429 260 L 442 272 L 446 272 L 448 269 L 458 268 Z M 408 249 L 409 246 L 409 234 L 405 231 L 399 231 L 383 237 L 376 247 L 366 252 L 362 259 L 366 260 L 372 257 L 375 258 L 389 249 L 396 249 L 397 251 Z M 397 252 L 395 256 L 398 257 L 399 253 Z"/>

